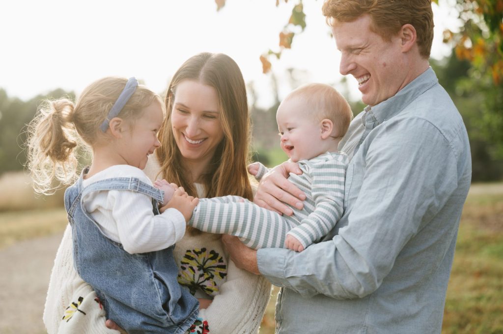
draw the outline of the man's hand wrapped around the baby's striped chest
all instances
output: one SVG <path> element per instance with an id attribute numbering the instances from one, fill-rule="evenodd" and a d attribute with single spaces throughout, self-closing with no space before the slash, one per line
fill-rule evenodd
<path id="1" fill-rule="evenodd" d="M 286 204 L 302 209 L 306 195 L 287 180 L 290 173 L 300 175 L 302 171 L 297 163 L 286 161 L 264 175 L 254 198 L 255 204 L 286 215 L 293 214 L 293 210 Z"/>

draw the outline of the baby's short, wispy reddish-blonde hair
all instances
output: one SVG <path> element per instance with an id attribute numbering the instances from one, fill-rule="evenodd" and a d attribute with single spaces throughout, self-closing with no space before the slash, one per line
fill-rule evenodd
<path id="1" fill-rule="evenodd" d="M 332 121 L 336 139 L 344 137 L 353 119 L 353 112 L 348 101 L 335 88 L 324 83 L 308 83 L 292 90 L 284 99 L 299 98 L 310 110 L 306 113 L 318 121 Z"/>

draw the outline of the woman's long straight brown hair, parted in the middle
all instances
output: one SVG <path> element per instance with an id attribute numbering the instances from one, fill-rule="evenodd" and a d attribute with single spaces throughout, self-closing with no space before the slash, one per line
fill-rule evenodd
<path id="1" fill-rule="evenodd" d="M 218 113 L 224 138 L 218 144 L 206 173 L 199 180 L 191 180 L 183 166 L 171 124 L 171 112 L 177 85 L 194 80 L 215 88 Z M 244 79 L 237 64 L 225 54 L 200 53 L 189 58 L 175 73 L 166 92 L 166 118 L 159 130 L 161 146 L 156 150 L 162 177 L 181 185 L 192 196 L 197 196 L 194 182 L 201 182 L 206 197 L 237 195 L 252 199 L 246 166 L 250 162 L 250 119 Z"/>

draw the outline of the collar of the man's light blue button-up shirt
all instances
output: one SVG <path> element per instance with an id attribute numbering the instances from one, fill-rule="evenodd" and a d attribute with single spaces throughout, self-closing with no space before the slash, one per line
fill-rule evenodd
<path id="1" fill-rule="evenodd" d="M 405 106 L 412 102 L 417 96 L 423 94 L 432 86 L 438 83 L 437 75 L 431 67 L 424 71 L 405 87 L 400 89 L 395 95 L 374 106 L 367 105 L 364 109 L 365 115 L 362 122 L 372 120 L 376 125 L 389 120 L 398 114 Z"/>

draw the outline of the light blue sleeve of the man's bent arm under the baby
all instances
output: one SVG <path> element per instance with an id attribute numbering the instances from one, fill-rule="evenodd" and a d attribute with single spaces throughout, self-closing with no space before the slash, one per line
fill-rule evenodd
<path id="1" fill-rule="evenodd" d="M 369 136 L 375 137 L 354 158 L 363 155 L 361 188 L 338 234 L 301 253 L 258 251 L 259 270 L 274 285 L 306 297 L 348 299 L 374 292 L 404 245 L 457 188 L 455 150 L 429 122 L 388 121 Z M 348 174 L 351 168 L 353 162 Z"/>

